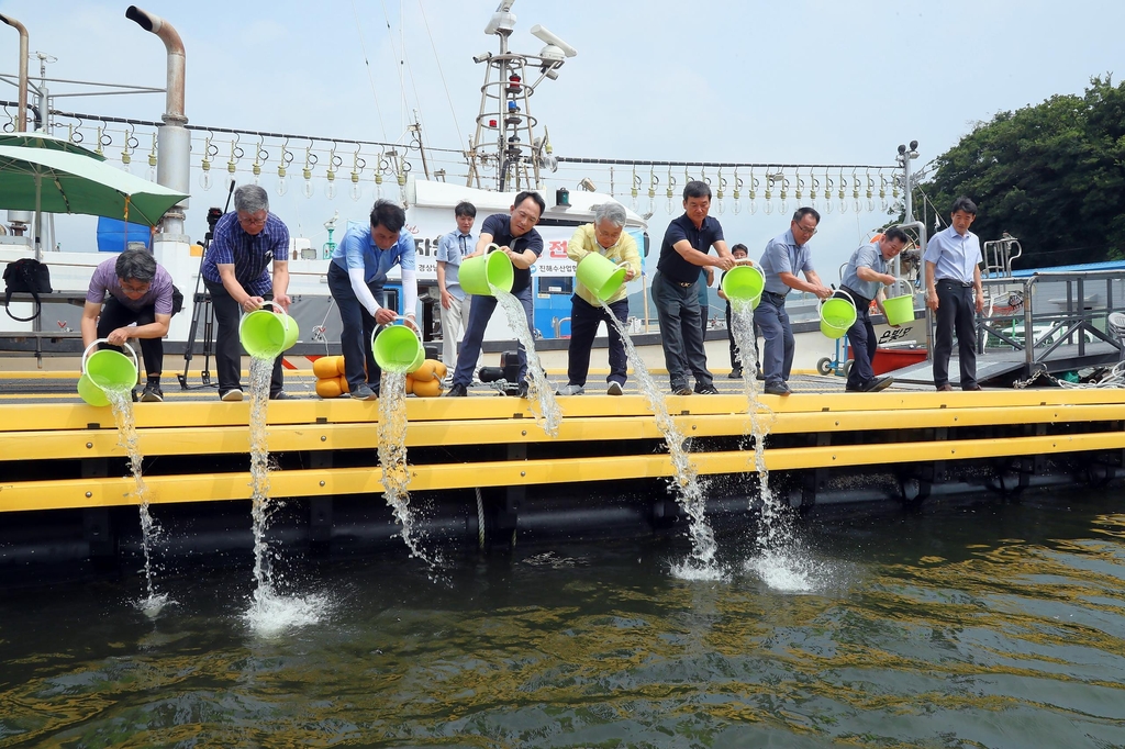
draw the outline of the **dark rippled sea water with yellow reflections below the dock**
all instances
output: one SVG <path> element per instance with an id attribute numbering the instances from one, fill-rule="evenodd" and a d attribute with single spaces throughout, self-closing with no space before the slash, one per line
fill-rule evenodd
<path id="1" fill-rule="evenodd" d="M 158 511 L 159 512 L 159 508 Z M 315 623 L 259 634 L 245 559 L 0 584 L 0 747 L 1125 746 L 1125 491 L 796 524 L 803 581 L 683 580 L 684 538 L 289 560 Z"/>

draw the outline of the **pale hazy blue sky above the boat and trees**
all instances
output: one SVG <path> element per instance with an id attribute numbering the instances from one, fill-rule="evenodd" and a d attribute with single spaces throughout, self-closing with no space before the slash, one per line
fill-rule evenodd
<path id="1" fill-rule="evenodd" d="M 146 0 L 141 7 L 183 37 L 192 124 L 394 141 L 417 110 L 428 144 L 459 148 L 471 133 L 484 74 L 471 56 L 496 49 L 495 37 L 483 33 L 496 4 Z M 126 20 L 126 8 L 100 0 L 0 3 L 28 27 L 33 52 L 57 57 L 50 76 L 163 85 L 163 45 Z M 1081 92 L 1091 75 L 1120 70 L 1125 49 L 1125 3 L 1117 0 L 518 0 L 513 12 L 514 48 L 538 52 L 542 44 L 529 29 L 541 24 L 578 49 L 559 80 L 533 97 L 560 156 L 890 164 L 899 143 L 917 139 L 920 166 L 998 111 Z M 18 36 L 0 27 L 0 71 L 15 72 L 17 53 Z M 163 97 L 65 99 L 56 107 L 159 119 Z M 608 187 L 604 174 L 591 175 Z M 568 170 L 561 179 L 573 190 L 576 177 Z M 629 175 L 618 179 L 620 191 Z M 647 174 L 645 181 L 647 189 Z M 650 222 L 655 242 L 668 220 L 663 187 Z M 192 188 L 199 192 L 195 175 Z M 374 198 L 352 202 L 346 183 L 340 192 L 334 205 L 320 195 L 308 201 L 299 188 L 284 199 L 271 195 L 276 213 L 299 226 L 295 233 L 318 244 L 332 210 L 361 218 Z M 621 199 L 628 205 L 628 195 Z M 214 190 L 197 195 L 192 236 L 201 235 L 205 207 L 216 201 Z M 88 224 L 74 233 L 62 220 L 66 249 L 88 242 Z M 722 220 L 728 241 L 745 242 L 752 256 L 788 227 L 760 210 L 736 217 L 728 208 Z M 836 265 L 882 220 L 826 216 L 813 241 L 821 274 L 835 280 Z"/>

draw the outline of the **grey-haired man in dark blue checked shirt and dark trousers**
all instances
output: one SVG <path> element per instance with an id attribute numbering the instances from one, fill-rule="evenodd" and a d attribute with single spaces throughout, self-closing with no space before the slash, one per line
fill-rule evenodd
<path id="1" fill-rule="evenodd" d="M 272 300 L 289 310 L 289 229 L 270 213 L 270 199 L 256 184 L 234 191 L 234 210 L 215 224 L 215 235 L 204 258 L 204 286 L 212 297 L 218 333 L 215 364 L 218 397 L 242 400 L 241 313 L 252 313 Z M 273 263 L 273 280 L 267 270 Z M 270 399 L 288 396 L 281 389 L 281 354 L 273 361 Z"/>

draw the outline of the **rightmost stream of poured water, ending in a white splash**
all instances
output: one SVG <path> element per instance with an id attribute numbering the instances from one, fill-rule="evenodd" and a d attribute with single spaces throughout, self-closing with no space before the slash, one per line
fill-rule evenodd
<path id="1" fill-rule="evenodd" d="M 746 395 L 754 442 L 754 468 L 758 473 L 758 496 L 762 500 L 762 520 L 755 545 L 757 556 L 747 560 L 746 569 L 754 571 L 775 590 L 812 590 L 810 579 L 814 571 L 802 556 L 801 544 L 793 527 L 792 514 L 770 488 L 770 470 L 765 461 L 768 434 L 767 418 L 772 412 L 762 404 L 755 372 L 757 352 L 754 349 L 754 312 L 750 307 L 732 305 L 731 332 L 742 361 L 742 391 Z"/>

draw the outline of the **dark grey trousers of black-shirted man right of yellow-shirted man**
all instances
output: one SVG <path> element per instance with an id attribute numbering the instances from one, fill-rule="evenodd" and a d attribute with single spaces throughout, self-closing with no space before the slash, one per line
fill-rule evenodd
<path id="1" fill-rule="evenodd" d="M 703 351 L 698 283 L 696 280 L 690 286 L 681 286 L 659 271 L 652 277 L 652 304 L 660 322 L 664 363 L 673 390 L 687 386 L 688 372 L 695 376 L 695 383 L 700 386 L 711 385 L 713 380 Z"/>

